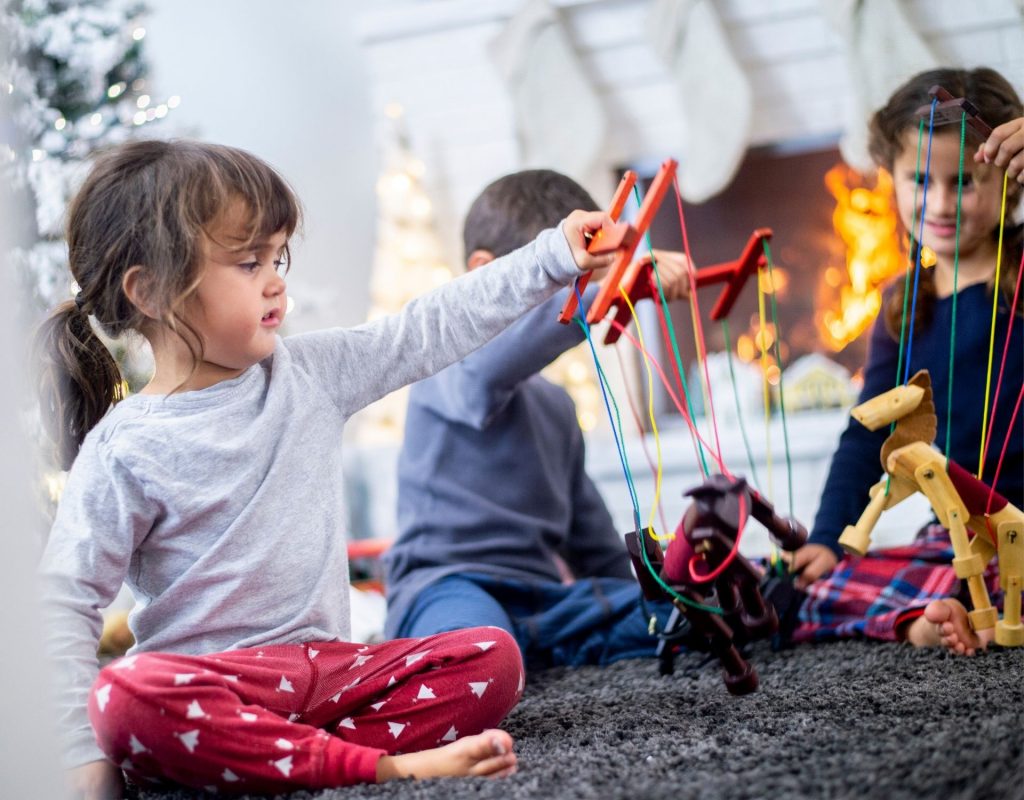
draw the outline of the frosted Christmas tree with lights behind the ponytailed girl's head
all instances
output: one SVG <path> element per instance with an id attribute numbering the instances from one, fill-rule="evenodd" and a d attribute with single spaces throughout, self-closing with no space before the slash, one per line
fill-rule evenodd
<path id="1" fill-rule="evenodd" d="M 0 11 L 0 179 L 33 211 L 12 258 L 33 314 L 74 294 L 61 227 L 89 157 L 178 103 L 147 93 L 144 11 L 137 0 L 8 0 Z"/>

